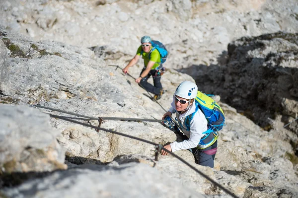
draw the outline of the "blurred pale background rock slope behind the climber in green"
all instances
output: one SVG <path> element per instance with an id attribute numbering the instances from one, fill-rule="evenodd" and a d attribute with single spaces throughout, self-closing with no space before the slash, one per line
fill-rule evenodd
<path id="1" fill-rule="evenodd" d="M 216 65 L 243 36 L 298 32 L 295 0 L 2 0 L 7 29 L 33 40 L 109 46 L 133 56 L 144 35 L 166 44 L 166 67 Z M 124 66 L 128 57 L 114 64 Z"/>

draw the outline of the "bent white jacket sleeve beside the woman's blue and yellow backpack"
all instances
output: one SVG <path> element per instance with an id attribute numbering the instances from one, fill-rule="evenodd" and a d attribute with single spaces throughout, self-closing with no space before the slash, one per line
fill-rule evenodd
<path id="1" fill-rule="evenodd" d="M 192 121 L 190 122 L 189 139 L 182 142 L 172 142 L 170 144 L 172 152 L 175 152 L 177 150 L 195 148 L 199 144 L 200 139 L 204 136 L 203 132 L 206 132 L 207 129 L 207 120 L 204 114 L 200 110 L 198 110 L 198 112 L 194 115 Z"/>

